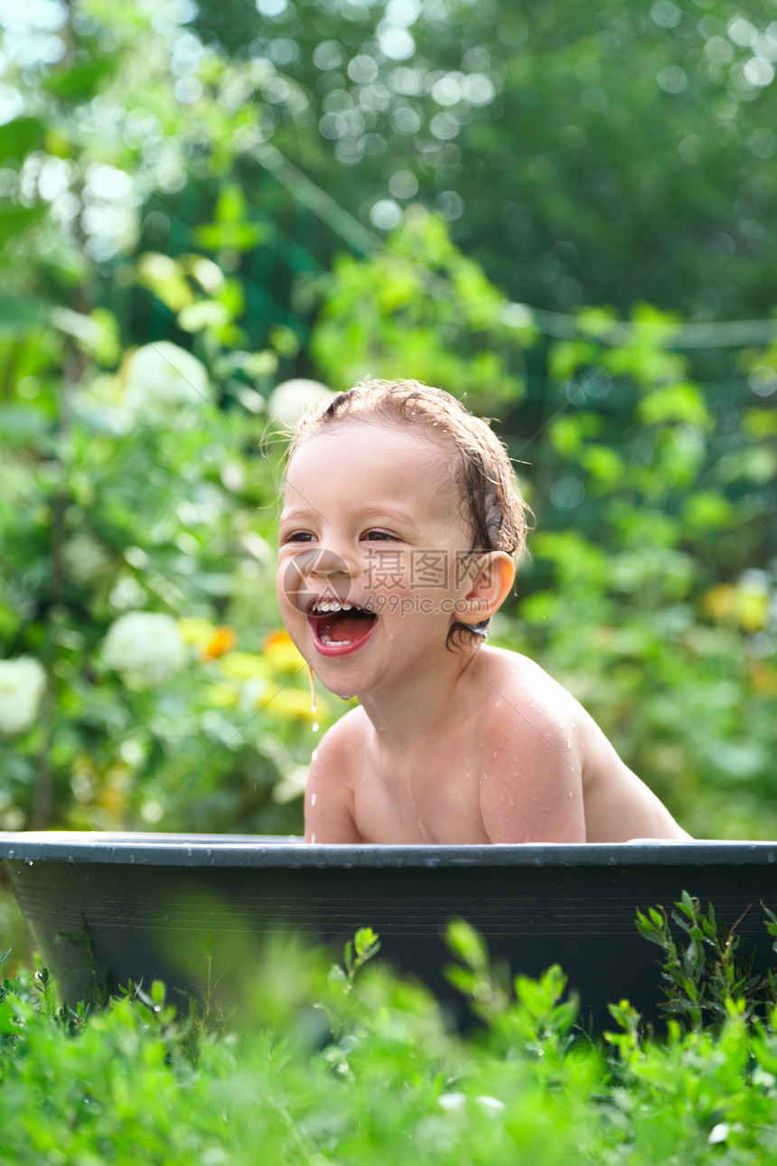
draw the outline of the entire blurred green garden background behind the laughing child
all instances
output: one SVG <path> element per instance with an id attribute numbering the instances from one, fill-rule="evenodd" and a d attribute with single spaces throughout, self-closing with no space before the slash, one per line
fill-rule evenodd
<path id="1" fill-rule="evenodd" d="M 772 324 L 681 346 L 771 311 L 771 16 L 270 7 L 3 29 L 0 824 L 299 829 L 268 399 L 370 373 L 466 394 L 529 463 L 501 641 L 692 833 L 775 836 Z M 149 352 L 185 375 L 139 389 Z M 144 625 L 169 679 L 108 667 L 133 612 L 176 625 Z"/>

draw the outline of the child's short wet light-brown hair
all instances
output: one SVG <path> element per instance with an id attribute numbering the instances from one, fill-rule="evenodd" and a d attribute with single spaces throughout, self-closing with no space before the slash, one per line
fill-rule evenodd
<path id="1" fill-rule="evenodd" d="M 457 483 L 465 518 L 472 531 L 473 553 L 503 550 L 520 561 L 525 550 L 528 506 L 507 449 L 490 426 L 475 417 L 454 396 L 416 380 L 366 380 L 330 402 L 316 402 L 295 427 L 289 449 L 352 417 L 386 421 L 409 429 L 430 430 L 430 436 L 452 444 L 459 455 Z M 488 620 L 455 623 L 448 633 L 483 635 Z"/>

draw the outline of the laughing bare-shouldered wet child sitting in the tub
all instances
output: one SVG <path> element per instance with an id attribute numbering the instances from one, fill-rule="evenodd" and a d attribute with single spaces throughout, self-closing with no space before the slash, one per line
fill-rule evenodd
<path id="1" fill-rule="evenodd" d="M 488 424 L 438 388 L 368 381 L 297 426 L 278 602 L 324 686 L 305 838 L 352 843 L 687 838 L 564 688 L 489 647 L 525 507 Z"/>

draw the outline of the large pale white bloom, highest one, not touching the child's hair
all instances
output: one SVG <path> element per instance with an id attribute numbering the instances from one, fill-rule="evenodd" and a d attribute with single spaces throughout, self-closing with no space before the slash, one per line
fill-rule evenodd
<path id="1" fill-rule="evenodd" d="M 185 405 L 202 408 L 211 399 L 205 366 L 170 340 L 144 344 L 133 352 L 126 377 L 125 405 L 141 419 L 169 416 Z"/>

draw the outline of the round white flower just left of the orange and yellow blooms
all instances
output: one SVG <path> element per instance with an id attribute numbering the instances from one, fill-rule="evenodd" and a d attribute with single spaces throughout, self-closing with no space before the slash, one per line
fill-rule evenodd
<path id="1" fill-rule="evenodd" d="M 179 672 L 186 648 L 172 616 L 129 611 L 108 628 L 103 659 L 134 684 L 163 684 Z"/>

